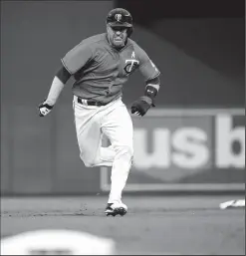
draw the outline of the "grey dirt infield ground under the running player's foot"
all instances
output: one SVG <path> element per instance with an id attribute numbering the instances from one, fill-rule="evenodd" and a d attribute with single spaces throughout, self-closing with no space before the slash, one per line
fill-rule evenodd
<path id="1" fill-rule="evenodd" d="M 245 255 L 245 208 L 236 196 L 128 196 L 125 216 L 106 217 L 106 196 L 1 198 L 1 237 L 70 229 L 115 240 L 118 254 Z"/>

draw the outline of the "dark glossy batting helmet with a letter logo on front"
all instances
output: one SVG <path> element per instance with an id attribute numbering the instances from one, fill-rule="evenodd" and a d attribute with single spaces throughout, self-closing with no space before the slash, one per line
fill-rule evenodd
<path id="1" fill-rule="evenodd" d="M 127 28 L 127 36 L 132 33 L 132 16 L 123 8 L 116 8 L 109 12 L 106 23 L 111 27 L 125 27 Z"/>

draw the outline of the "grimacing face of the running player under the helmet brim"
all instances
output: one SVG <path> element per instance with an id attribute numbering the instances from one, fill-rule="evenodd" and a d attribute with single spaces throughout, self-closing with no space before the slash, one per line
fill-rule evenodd
<path id="1" fill-rule="evenodd" d="M 125 40 L 127 38 L 127 28 L 107 26 L 107 31 L 109 41 L 114 47 L 121 48 L 124 46 Z"/>

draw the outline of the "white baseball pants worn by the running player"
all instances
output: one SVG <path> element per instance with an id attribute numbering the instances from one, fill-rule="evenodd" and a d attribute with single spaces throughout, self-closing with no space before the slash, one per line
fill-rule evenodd
<path id="1" fill-rule="evenodd" d="M 122 99 L 97 107 L 81 105 L 74 96 L 73 107 L 81 159 L 88 167 L 112 166 L 108 202 L 122 202 L 133 157 L 132 122 Z M 103 134 L 111 141 L 108 147 L 102 146 Z"/>

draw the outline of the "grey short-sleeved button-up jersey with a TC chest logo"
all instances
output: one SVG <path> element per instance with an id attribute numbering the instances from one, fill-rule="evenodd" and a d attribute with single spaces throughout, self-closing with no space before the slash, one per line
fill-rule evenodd
<path id="1" fill-rule="evenodd" d="M 109 44 L 107 34 L 83 40 L 62 59 L 76 82 L 74 95 L 109 103 L 123 94 L 128 76 L 139 69 L 144 80 L 157 77 L 159 71 L 147 54 L 131 39 L 121 51 Z"/>

